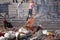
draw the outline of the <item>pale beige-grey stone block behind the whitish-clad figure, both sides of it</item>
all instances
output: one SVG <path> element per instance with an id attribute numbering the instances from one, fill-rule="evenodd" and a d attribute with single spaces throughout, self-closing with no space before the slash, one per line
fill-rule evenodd
<path id="1" fill-rule="evenodd" d="M 27 6 L 26 6 L 27 4 Z M 9 5 L 9 15 L 17 15 L 18 16 L 18 9 L 17 9 L 17 5 L 18 3 L 13 3 L 11 5 Z M 26 15 L 28 13 L 28 3 L 24 3 L 22 4 L 22 8 L 24 10 L 24 15 Z"/>

